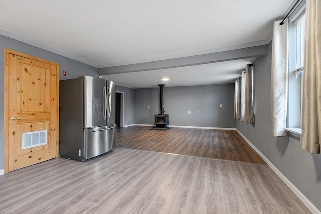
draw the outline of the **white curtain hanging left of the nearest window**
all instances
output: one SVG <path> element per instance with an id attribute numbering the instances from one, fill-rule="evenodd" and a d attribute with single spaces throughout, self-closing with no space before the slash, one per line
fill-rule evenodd
<path id="1" fill-rule="evenodd" d="M 273 25 L 271 71 L 271 134 L 285 136 L 287 114 L 288 19 Z"/>

